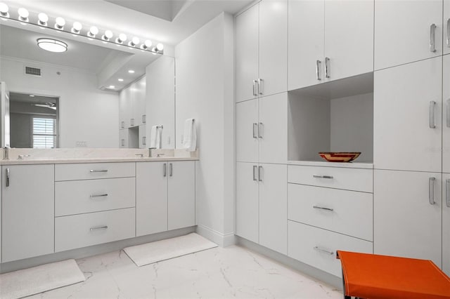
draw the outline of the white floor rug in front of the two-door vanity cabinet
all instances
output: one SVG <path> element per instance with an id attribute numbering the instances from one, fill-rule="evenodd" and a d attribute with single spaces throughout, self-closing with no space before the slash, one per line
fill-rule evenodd
<path id="1" fill-rule="evenodd" d="M 193 232 L 181 237 L 127 247 L 124 251 L 141 267 L 214 247 L 217 247 L 217 244 Z"/>

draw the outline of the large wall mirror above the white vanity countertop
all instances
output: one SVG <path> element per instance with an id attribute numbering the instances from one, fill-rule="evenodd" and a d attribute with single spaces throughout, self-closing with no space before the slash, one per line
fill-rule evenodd
<path id="1" fill-rule="evenodd" d="M 63 41 L 67 51 L 39 48 L 44 38 Z M 147 148 L 150 128 L 162 126 L 161 147 L 174 148 L 174 63 L 169 55 L 0 22 L 9 146 Z"/>

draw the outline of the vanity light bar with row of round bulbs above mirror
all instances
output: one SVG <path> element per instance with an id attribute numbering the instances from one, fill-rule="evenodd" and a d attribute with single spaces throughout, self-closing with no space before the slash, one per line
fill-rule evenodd
<path id="1" fill-rule="evenodd" d="M 46 15 L 46 13 L 39 13 L 37 14 L 37 22 L 36 24 L 30 22 L 30 13 L 27 11 L 26 8 L 18 8 L 18 15 L 17 19 L 11 18 L 9 8 L 6 4 L 0 2 L 0 20 L 13 20 L 15 22 L 20 22 L 22 24 L 28 23 L 30 25 L 39 26 L 44 29 L 53 29 L 58 32 L 65 32 L 72 34 L 74 36 L 86 36 L 89 40 L 97 40 L 102 41 L 104 44 L 110 43 L 110 44 L 117 44 L 117 46 L 124 45 L 128 46 L 129 48 L 136 48 L 140 51 L 148 51 L 153 54 L 163 54 L 164 46 L 162 44 L 157 44 L 155 47 L 151 48 L 152 42 L 148 39 L 144 40 L 141 43 L 141 39 L 139 37 L 134 36 L 127 44 L 125 41 L 127 41 L 127 35 L 126 34 L 119 34 L 116 39 L 113 39 L 113 32 L 110 30 L 105 30 L 104 34 L 101 36 L 97 36 L 98 34 L 98 28 L 96 26 L 91 26 L 89 29 L 85 29 L 85 32 L 82 33 L 83 26 L 80 22 L 74 22 L 72 27 L 70 29 L 65 29 L 66 22 L 63 18 L 57 17 L 55 18 L 55 22 L 53 27 L 49 27 L 49 16 Z M 86 27 L 88 28 L 88 27 Z"/>

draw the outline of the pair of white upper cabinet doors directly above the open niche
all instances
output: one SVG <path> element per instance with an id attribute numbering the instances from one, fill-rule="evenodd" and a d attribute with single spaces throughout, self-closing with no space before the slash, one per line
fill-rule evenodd
<path id="1" fill-rule="evenodd" d="M 373 71 L 373 0 L 289 1 L 288 90 Z"/>

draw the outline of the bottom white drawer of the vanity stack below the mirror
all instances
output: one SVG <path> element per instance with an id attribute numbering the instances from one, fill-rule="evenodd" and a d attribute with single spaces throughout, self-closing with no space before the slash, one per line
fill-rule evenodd
<path id="1" fill-rule="evenodd" d="M 55 218 L 55 252 L 135 237 L 135 208 Z"/>

